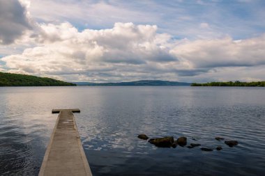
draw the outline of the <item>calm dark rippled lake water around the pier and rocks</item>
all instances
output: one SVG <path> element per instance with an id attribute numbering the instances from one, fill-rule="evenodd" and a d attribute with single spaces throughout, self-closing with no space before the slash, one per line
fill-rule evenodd
<path id="1" fill-rule="evenodd" d="M 265 175 L 265 89 L 199 87 L 0 88 L 0 175 L 38 175 L 51 110 L 68 108 L 82 111 L 75 116 L 95 176 Z M 223 150 L 158 148 L 142 133 Z"/>

